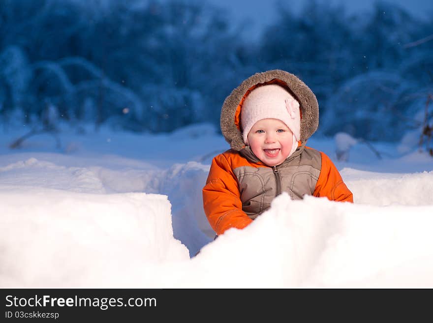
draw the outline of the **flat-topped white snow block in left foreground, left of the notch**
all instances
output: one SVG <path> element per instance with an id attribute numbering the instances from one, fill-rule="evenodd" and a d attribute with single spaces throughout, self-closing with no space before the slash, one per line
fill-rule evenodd
<path id="1" fill-rule="evenodd" d="M 188 260 L 166 196 L 0 187 L 0 286 L 96 287 Z"/>

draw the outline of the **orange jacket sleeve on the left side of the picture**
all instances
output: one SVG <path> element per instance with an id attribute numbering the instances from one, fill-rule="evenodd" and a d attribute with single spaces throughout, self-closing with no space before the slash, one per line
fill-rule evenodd
<path id="1" fill-rule="evenodd" d="M 230 228 L 243 229 L 252 222 L 242 210 L 238 181 L 223 154 L 212 160 L 203 188 L 203 207 L 217 235 L 222 235 Z"/>

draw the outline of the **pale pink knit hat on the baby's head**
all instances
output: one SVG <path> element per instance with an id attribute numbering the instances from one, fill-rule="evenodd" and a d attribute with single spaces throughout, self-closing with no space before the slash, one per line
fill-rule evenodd
<path id="1" fill-rule="evenodd" d="M 248 145 L 248 133 L 254 123 L 273 118 L 284 122 L 299 141 L 301 114 L 299 102 L 284 88 L 276 84 L 254 88 L 246 97 L 241 110 L 242 136 Z"/>

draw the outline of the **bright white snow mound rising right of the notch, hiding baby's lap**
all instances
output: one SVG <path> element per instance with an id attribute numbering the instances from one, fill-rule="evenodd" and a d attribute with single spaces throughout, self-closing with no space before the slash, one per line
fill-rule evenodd
<path id="1" fill-rule="evenodd" d="M 276 198 L 205 246 L 181 287 L 433 287 L 433 206 Z M 192 279 L 193 277 L 193 279 Z"/>

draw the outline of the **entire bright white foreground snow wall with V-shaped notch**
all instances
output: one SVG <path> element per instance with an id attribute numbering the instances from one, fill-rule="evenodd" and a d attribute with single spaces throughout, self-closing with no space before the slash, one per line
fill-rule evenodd
<path id="1" fill-rule="evenodd" d="M 2 287 L 433 287 L 433 206 L 287 194 L 189 260 L 166 197 L 0 191 Z"/>

